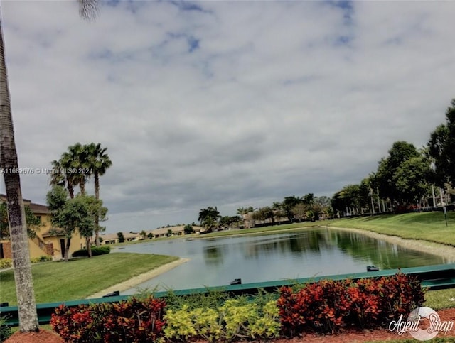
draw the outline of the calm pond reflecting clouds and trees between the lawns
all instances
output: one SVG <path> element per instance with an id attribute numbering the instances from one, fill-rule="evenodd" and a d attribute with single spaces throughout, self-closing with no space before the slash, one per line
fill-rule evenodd
<path id="1" fill-rule="evenodd" d="M 190 261 L 125 292 L 149 288 L 173 290 L 281 279 L 360 273 L 380 269 L 429 266 L 444 258 L 403 248 L 363 234 L 336 229 L 242 235 L 220 238 L 170 239 L 124 246 L 114 251 L 165 254 Z M 114 252 L 113 251 L 113 252 Z"/>

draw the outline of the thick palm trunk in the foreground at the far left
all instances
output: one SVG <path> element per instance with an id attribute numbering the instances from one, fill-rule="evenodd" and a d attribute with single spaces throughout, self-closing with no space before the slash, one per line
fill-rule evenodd
<path id="1" fill-rule="evenodd" d="M 38 331 L 35 293 L 31 275 L 30 253 L 26 214 L 21 193 L 21 178 L 18 173 L 14 126 L 11 114 L 8 75 L 6 72 L 4 37 L 0 16 L 0 168 L 4 171 L 6 202 L 9 219 L 9 236 L 14 266 L 14 281 L 18 303 L 19 328 L 21 332 Z"/>

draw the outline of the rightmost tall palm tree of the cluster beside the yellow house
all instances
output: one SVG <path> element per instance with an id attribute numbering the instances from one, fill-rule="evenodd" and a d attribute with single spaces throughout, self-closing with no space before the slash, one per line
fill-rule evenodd
<path id="1" fill-rule="evenodd" d="M 95 198 L 99 200 L 100 176 L 105 175 L 106 170 L 112 166 L 112 161 L 106 153 L 107 148 L 102 148 L 101 143 L 90 143 L 85 148 L 87 149 L 88 165 L 95 179 Z M 95 243 L 97 246 L 100 246 L 100 231 L 102 231 L 102 227 L 99 225 L 99 217 L 95 216 Z"/>

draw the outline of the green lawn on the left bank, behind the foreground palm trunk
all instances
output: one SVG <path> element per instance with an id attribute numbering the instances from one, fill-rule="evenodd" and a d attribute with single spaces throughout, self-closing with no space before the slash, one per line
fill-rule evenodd
<path id="1" fill-rule="evenodd" d="M 176 256 L 114 253 L 32 265 L 37 303 L 79 300 L 178 259 Z M 0 303 L 16 305 L 12 270 L 0 273 Z"/>

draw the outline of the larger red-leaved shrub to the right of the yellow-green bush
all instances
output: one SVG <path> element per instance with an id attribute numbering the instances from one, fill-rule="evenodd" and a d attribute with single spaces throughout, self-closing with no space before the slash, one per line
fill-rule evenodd
<path id="1" fill-rule="evenodd" d="M 282 287 L 280 293 L 282 332 L 288 336 L 334 332 L 345 325 L 380 327 L 424 302 L 419 280 L 403 273 L 355 282 L 323 280 L 296 292 Z"/>

